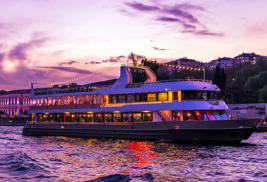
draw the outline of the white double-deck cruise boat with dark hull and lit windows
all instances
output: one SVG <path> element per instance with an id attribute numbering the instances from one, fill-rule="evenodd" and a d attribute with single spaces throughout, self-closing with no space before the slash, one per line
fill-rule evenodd
<path id="1" fill-rule="evenodd" d="M 133 83 L 132 72 L 144 72 Z M 146 66 L 125 64 L 108 87 L 53 88 L 34 92 L 26 136 L 73 136 L 138 140 L 241 142 L 260 120 L 229 120 L 219 88 L 208 80 L 157 81 Z"/>

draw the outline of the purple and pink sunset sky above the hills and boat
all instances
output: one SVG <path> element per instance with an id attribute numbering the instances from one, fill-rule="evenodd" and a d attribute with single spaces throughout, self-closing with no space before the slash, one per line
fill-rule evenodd
<path id="1" fill-rule="evenodd" d="M 77 83 L 117 78 L 131 52 L 159 62 L 265 56 L 266 7 L 263 0 L 0 0 L 0 90 L 62 82 L 115 62 Z"/>

